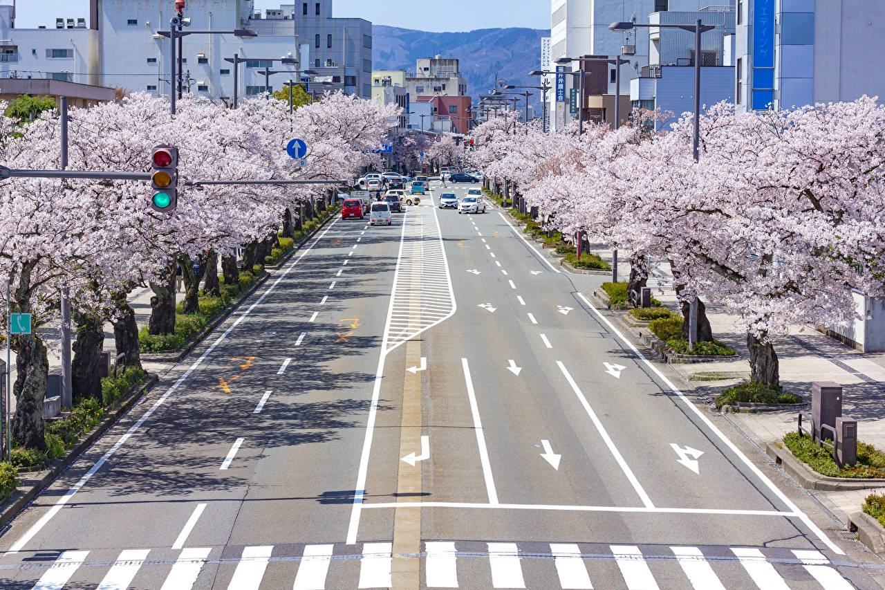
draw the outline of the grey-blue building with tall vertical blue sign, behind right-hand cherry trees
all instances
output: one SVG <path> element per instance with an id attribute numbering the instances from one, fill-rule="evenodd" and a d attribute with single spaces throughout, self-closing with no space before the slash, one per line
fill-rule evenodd
<path id="1" fill-rule="evenodd" d="M 738 110 L 885 97 L 885 78 L 871 73 L 885 58 L 883 35 L 881 2 L 738 0 Z"/>

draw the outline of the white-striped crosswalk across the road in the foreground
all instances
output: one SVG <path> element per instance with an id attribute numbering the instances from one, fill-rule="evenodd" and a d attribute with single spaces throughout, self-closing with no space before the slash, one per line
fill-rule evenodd
<path id="1" fill-rule="evenodd" d="M 35 565 L 0 563 L 0 586 L 62 588 L 387 588 L 390 542 L 250 547 L 66 550 Z M 40 557 L 42 558 L 41 554 Z M 412 557 L 412 556 L 408 556 Z M 426 541 L 427 588 L 729 588 L 854 587 L 815 549 Z M 105 561 L 107 560 L 107 561 Z M 27 580 L 31 580 L 28 582 Z M 33 584 L 33 586 L 31 586 Z"/>

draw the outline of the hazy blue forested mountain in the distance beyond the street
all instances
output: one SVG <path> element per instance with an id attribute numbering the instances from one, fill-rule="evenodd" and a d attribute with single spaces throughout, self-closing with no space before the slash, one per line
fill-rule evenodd
<path id="1" fill-rule="evenodd" d="M 550 31 L 532 28 L 481 28 L 466 33 L 430 33 L 408 28 L 373 26 L 373 68 L 414 71 L 417 58 L 441 55 L 458 58 L 467 93 L 473 101 L 495 88 L 496 80 L 507 84 L 536 85 L 528 75 L 541 67 L 541 38 Z M 529 104 L 540 113 L 541 91 Z M 519 103 L 521 105 L 521 101 Z"/>

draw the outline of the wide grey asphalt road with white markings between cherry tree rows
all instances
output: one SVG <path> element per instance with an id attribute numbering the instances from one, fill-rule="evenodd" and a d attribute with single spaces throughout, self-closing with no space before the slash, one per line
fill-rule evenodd
<path id="1" fill-rule="evenodd" d="M 2 587 L 880 587 L 604 277 L 439 194 L 327 226 L 3 532 Z"/>

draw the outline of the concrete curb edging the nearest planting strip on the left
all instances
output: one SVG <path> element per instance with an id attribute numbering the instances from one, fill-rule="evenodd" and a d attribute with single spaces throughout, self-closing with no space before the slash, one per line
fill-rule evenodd
<path id="1" fill-rule="evenodd" d="M 15 516 L 18 516 L 19 512 L 26 508 L 27 505 L 35 499 L 37 494 L 49 487 L 49 485 L 56 480 L 56 477 L 61 475 L 61 473 L 73 462 L 79 459 L 80 455 L 89 449 L 96 440 L 104 436 L 105 432 L 111 430 L 112 426 L 117 423 L 119 418 L 125 415 L 130 408 L 135 406 L 135 402 L 141 400 L 144 394 L 149 392 L 154 385 L 158 384 L 158 382 L 159 377 L 156 375 L 150 375 L 147 382 L 143 383 L 142 386 L 139 387 L 137 391 L 130 394 L 129 397 L 122 400 L 117 408 L 104 416 L 104 420 L 102 420 L 101 423 L 98 423 L 92 431 L 89 431 L 80 442 L 71 447 L 64 457 L 55 459 L 49 464 L 49 467 L 39 471 L 38 473 L 41 475 L 38 476 L 30 487 L 24 490 L 16 489 L 15 493 L 12 494 L 12 499 L 6 504 L 5 508 L 3 508 L 3 511 L 0 512 L 0 529 L 9 524 Z M 31 473 L 33 473 L 33 471 Z"/>

